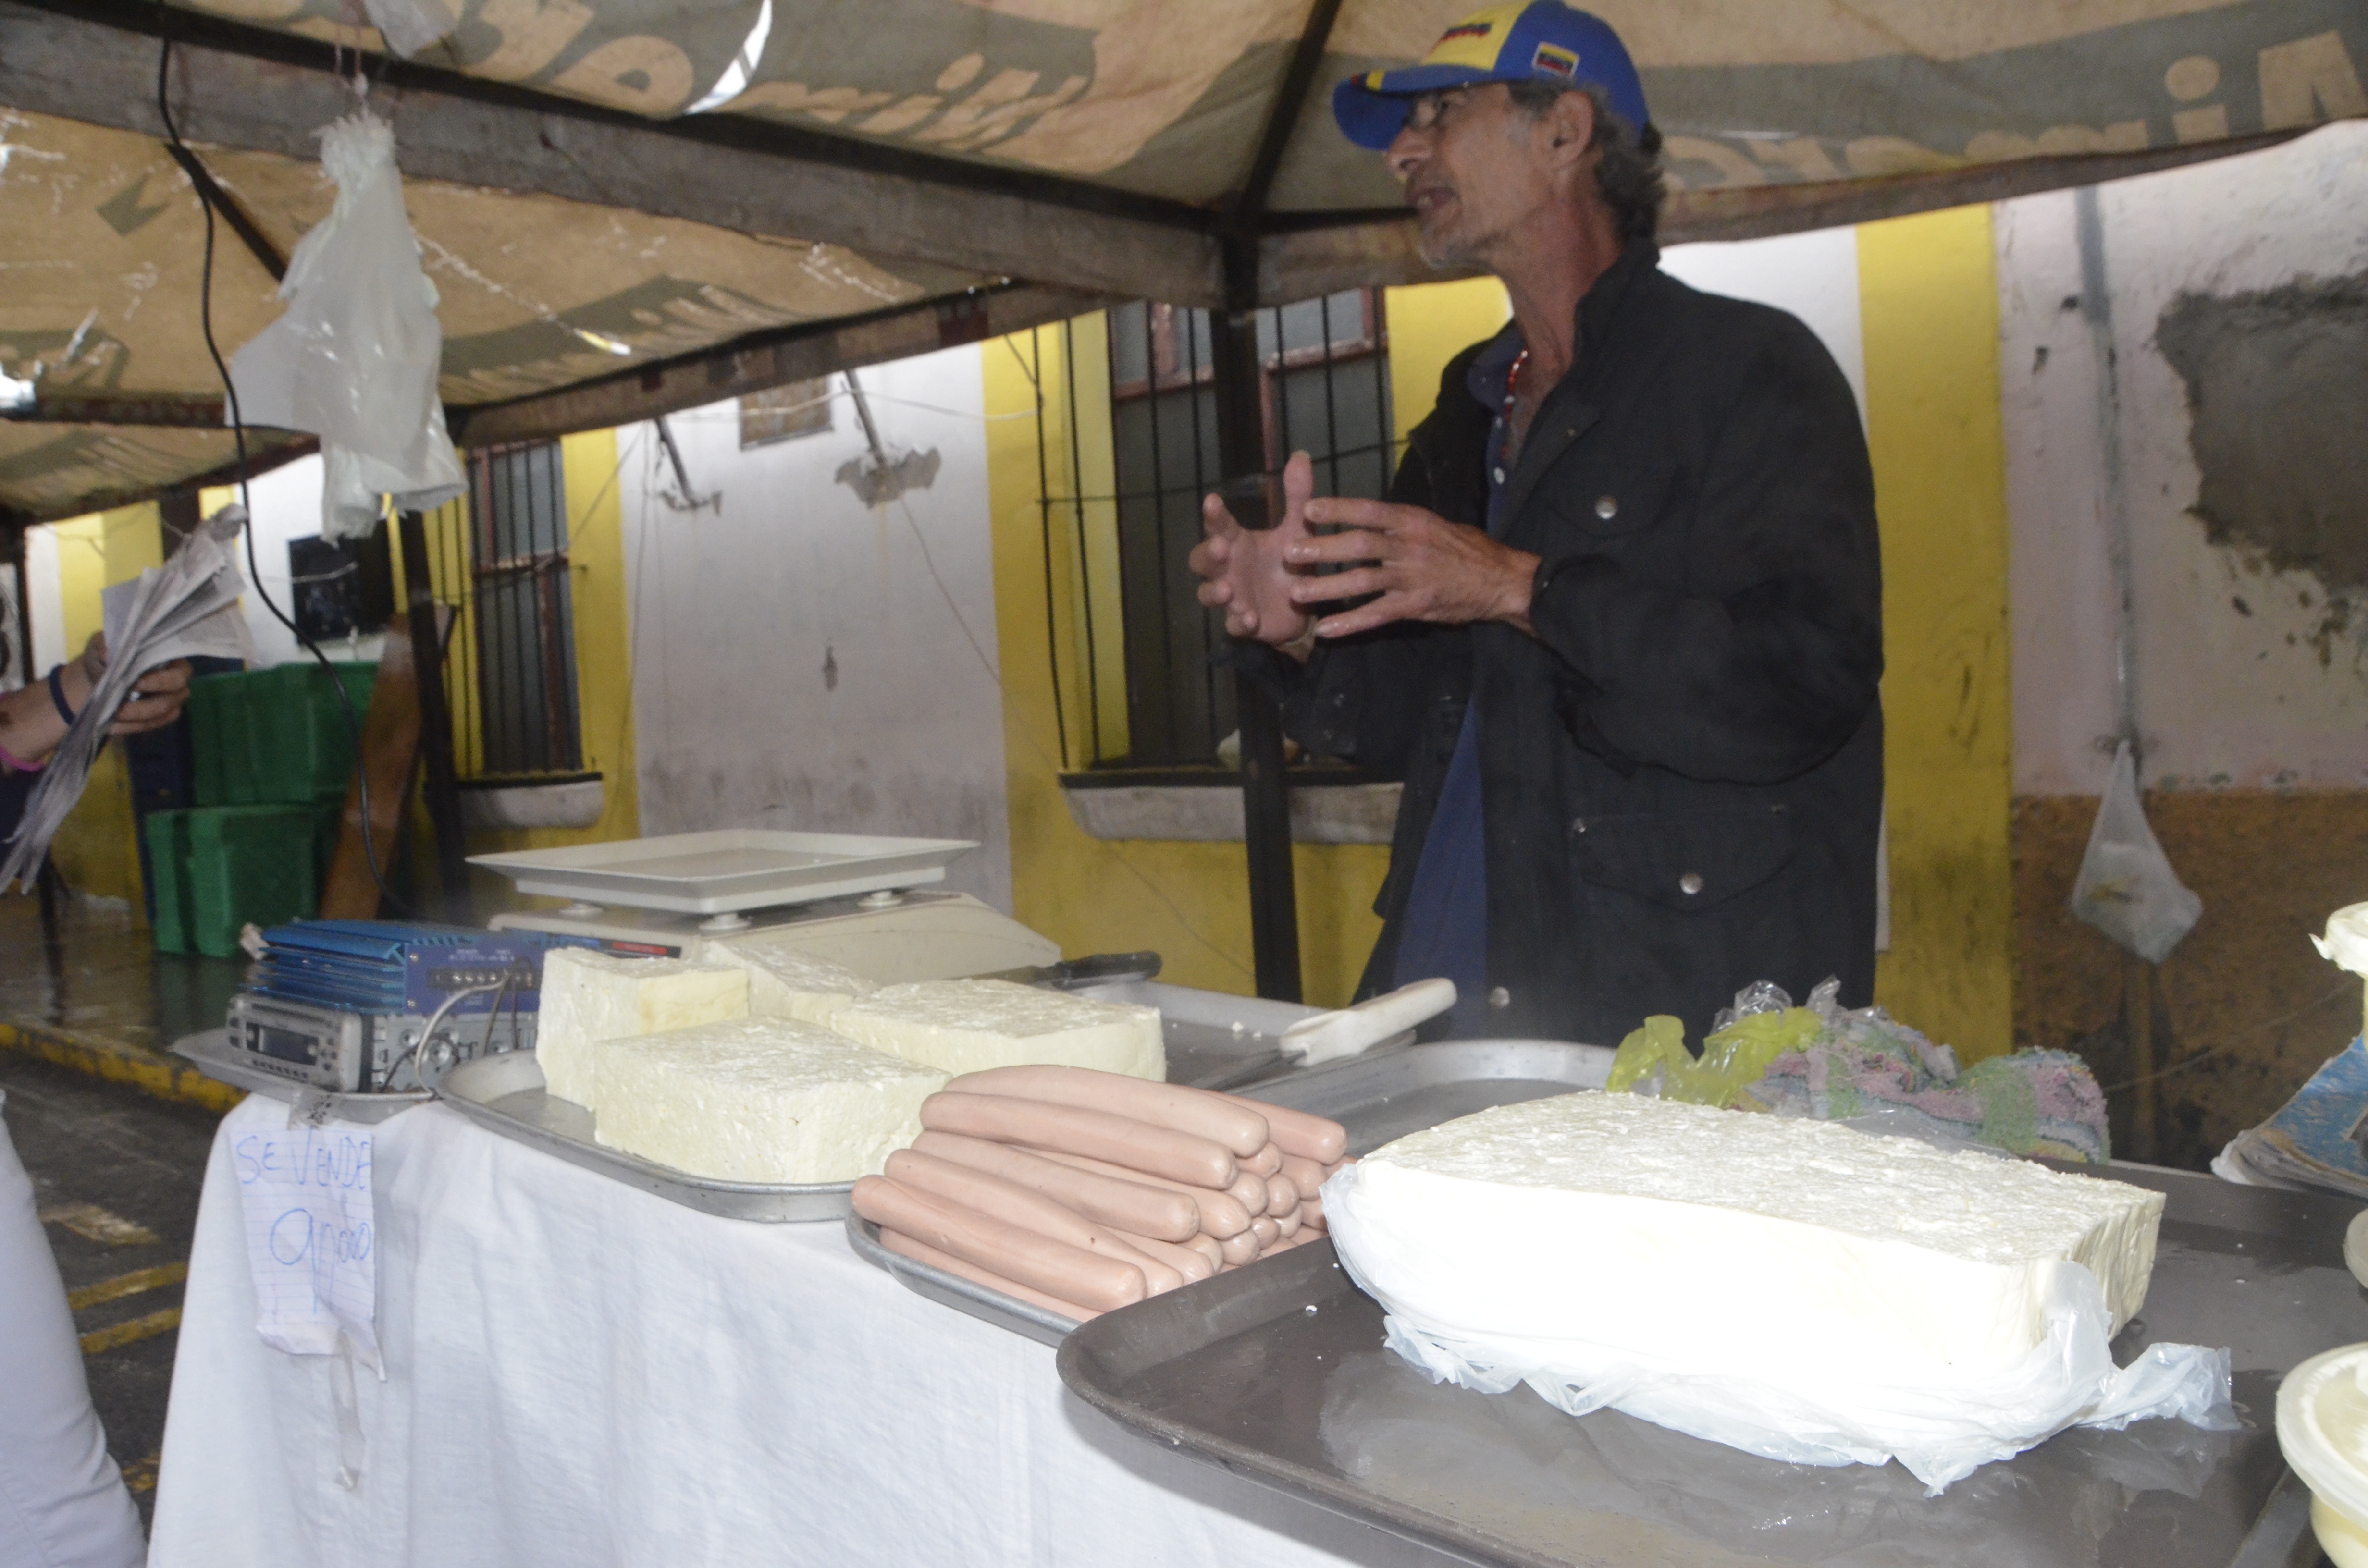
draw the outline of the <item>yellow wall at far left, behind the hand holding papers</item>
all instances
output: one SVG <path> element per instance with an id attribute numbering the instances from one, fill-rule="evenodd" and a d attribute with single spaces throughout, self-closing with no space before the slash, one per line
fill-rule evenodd
<path id="1" fill-rule="evenodd" d="M 78 656 L 102 625 L 99 590 L 163 564 L 163 523 L 154 505 L 137 505 L 52 523 L 52 533 L 66 654 Z M 69 888 L 123 898 L 133 919 L 144 924 L 140 843 L 133 831 L 130 770 L 123 765 L 123 748 L 107 744 L 90 765 L 83 798 L 59 824 L 50 855 Z"/>

